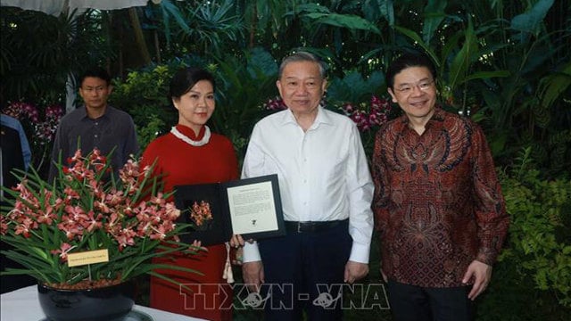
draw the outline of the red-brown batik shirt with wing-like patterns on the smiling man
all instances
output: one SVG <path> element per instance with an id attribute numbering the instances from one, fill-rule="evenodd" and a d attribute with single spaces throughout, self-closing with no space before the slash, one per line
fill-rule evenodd
<path id="1" fill-rule="evenodd" d="M 392 280 L 462 285 L 473 260 L 492 265 L 509 218 L 484 133 L 441 109 L 422 135 L 406 115 L 385 124 L 372 161 L 382 268 Z"/>

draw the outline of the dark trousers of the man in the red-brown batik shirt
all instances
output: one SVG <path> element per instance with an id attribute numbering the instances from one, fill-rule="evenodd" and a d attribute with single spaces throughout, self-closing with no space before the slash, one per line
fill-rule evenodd
<path id="1" fill-rule="evenodd" d="M 470 286 L 421 287 L 389 280 L 389 303 L 394 321 L 472 321 L 474 302 Z"/>

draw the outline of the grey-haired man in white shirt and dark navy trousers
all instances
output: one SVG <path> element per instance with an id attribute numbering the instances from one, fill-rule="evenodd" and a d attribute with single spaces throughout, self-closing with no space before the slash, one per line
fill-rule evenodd
<path id="1" fill-rule="evenodd" d="M 244 283 L 268 298 L 267 320 L 341 320 L 343 283 L 368 274 L 374 185 L 355 124 L 320 105 L 326 86 L 316 56 L 286 57 L 287 109 L 256 124 L 244 158 L 244 178 L 277 174 L 287 230 L 244 245 Z"/>

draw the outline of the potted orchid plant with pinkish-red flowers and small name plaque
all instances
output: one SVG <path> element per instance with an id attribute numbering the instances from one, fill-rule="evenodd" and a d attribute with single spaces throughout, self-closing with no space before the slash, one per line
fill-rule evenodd
<path id="1" fill-rule="evenodd" d="M 87 156 L 78 150 L 67 165 L 59 161 L 57 166 L 59 175 L 52 183 L 34 169 L 15 174 L 20 184 L 3 187 L 8 194 L 3 201 L 9 205 L 2 207 L 0 216 L 2 240 L 12 246 L 3 253 L 22 266 L 2 275 L 35 277 L 47 317 L 77 320 L 82 319 L 80 312 L 91 314 L 86 320 L 125 315 L 133 305 L 128 295 L 132 291 L 125 288 L 129 280 L 147 274 L 176 284 L 156 273 L 159 268 L 199 273 L 152 261 L 174 252 L 198 251 L 179 242 L 187 225 L 176 224 L 180 211 L 168 202 L 170 193 L 161 193 L 157 177 L 151 176 L 153 166 L 140 169 L 132 158 L 115 178 L 97 149 Z M 94 294 L 100 288 L 105 289 L 103 294 Z M 43 294 L 53 291 L 59 294 L 42 300 Z M 82 298 L 77 299 L 80 306 L 70 303 L 71 293 Z M 98 301 L 95 311 L 85 306 L 87 297 Z M 100 309 L 99 301 L 109 297 L 113 301 Z M 56 307 L 46 306 L 54 300 Z M 110 309 L 113 304 L 120 305 L 117 311 Z M 94 315 L 99 312 L 112 314 Z"/>

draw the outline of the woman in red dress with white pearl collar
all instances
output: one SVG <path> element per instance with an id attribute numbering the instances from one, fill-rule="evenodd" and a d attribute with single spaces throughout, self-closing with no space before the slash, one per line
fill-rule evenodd
<path id="1" fill-rule="evenodd" d="M 176 185 L 238 178 L 238 162 L 232 143 L 225 136 L 211 133 L 206 126 L 216 106 L 214 90 L 214 78 L 200 69 L 179 70 L 170 82 L 170 98 L 178 110 L 178 125 L 169 134 L 153 140 L 143 154 L 145 164 L 157 161 L 154 175 L 163 176 L 167 192 Z M 179 255 L 176 262 L 170 262 L 203 273 L 203 276 L 169 275 L 182 284 L 191 284 L 189 287 L 193 292 L 184 289 L 181 292 L 178 286 L 152 277 L 153 308 L 208 320 L 232 319 L 232 289 L 223 278 L 226 246 L 211 245 L 207 250 L 193 257 Z"/>

